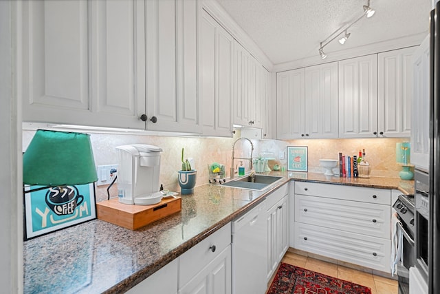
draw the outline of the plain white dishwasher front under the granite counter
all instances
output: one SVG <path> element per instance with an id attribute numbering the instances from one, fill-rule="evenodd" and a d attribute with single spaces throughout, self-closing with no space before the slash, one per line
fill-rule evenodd
<path id="1" fill-rule="evenodd" d="M 232 294 L 267 289 L 266 200 L 232 222 Z"/>

